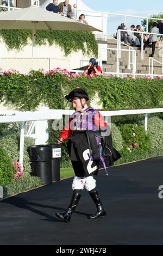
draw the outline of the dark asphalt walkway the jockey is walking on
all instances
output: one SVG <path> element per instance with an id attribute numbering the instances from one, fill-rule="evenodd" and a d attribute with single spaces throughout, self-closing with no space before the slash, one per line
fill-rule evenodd
<path id="1" fill-rule="evenodd" d="M 107 215 L 95 220 L 86 218 L 96 212 L 87 191 L 70 223 L 55 217 L 70 203 L 72 179 L 1 200 L 0 245 L 163 245 L 163 157 L 99 172 Z"/>

